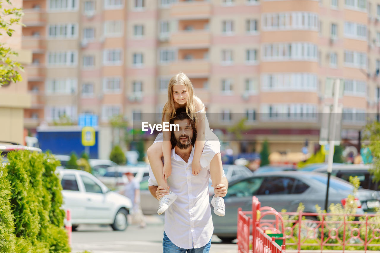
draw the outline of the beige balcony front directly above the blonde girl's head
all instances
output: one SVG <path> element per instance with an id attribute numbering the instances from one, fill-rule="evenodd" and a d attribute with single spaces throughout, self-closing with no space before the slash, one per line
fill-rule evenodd
<path id="1" fill-rule="evenodd" d="M 171 74 L 184 72 L 189 77 L 206 77 L 211 72 L 211 63 L 209 60 L 178 60 L 169 66 Z"/>

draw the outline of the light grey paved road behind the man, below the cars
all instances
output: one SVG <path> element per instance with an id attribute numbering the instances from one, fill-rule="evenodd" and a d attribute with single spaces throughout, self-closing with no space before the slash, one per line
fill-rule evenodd
<path id="1" fill-rule="evenodd" d="M 110 226 L 82 225 L 72 234 L 72 252 L 82 253 L 161 253 L 163 220 L 147 216 L 147 226 L 128 226 L 125 231 L 112 231 Z M 222 244 L 217 236 L 211 239 L 211 253 L 236 253 L 236 244 Z"/>

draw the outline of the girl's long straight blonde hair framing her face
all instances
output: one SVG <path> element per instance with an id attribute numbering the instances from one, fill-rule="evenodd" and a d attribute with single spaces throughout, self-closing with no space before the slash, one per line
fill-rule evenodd
<path id="1" fill-rule="evenodd" d="M 181 84 L 186 87 L 187 90 L 187 103 L 186 103 L 186 113 L 195 121 L 195 125 L 198 123 L 198 119 L 195 115 L 195 104 L 194 104 L 194 87 L 190 82 L 190 79 L 182 72 L 173 76 L 168 85 L 168 102 L 166 102 L 164 109 L 162 110 L 162 121 L 164 121 L 164 116 L 169 115 L 169 120 L 176 117 L 176 108 L 174 107 L 173 99 L 173 85 Z"/>

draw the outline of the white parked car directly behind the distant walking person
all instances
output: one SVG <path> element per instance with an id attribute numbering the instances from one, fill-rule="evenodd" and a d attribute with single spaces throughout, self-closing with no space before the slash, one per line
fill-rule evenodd
<path id="1" fill-rule="evenodd" d="M 132 172 L 133 176 L 141 181 L 143 177 L 149 176 L 149 165 L 108 167 L 107 172 L 103 176 L 98 176 L 98 179 L 107 187 L 120 190 L 128 182 L 127 177 L 124 175 L 125 172 Z"/>

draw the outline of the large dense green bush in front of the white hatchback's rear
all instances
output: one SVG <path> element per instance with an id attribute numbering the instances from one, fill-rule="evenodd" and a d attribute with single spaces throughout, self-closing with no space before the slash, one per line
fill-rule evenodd
<path id="1" fill-rule="evenodd" d="M 55 174 L 59 161 L 49 153 L 27 150 L 9 152 L 8 161 L 5 168 L 17 238 L 15 251 L 1 252 L 70 252 L 63 229 L 65 212 L 60 209 L 62 187 Z"/>

